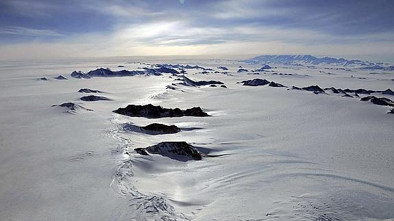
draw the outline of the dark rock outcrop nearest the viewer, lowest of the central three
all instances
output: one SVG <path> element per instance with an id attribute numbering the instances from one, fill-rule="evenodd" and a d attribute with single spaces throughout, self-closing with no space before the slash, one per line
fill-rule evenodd
<path id="1" fill-rule="evenodd" d="M 194 146 L 186 142 L 160 142 L 153 146 L 146 148 L 135 148 L 134 151 L 140 155 L 159 154 L 171 159 L 187 160 L 201 160 L 202 155 L 195 149 Z"/>

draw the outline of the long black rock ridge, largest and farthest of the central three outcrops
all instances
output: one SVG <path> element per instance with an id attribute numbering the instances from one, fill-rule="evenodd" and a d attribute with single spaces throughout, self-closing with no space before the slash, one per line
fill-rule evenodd
<path id="1" fill-rule="evenodd" d="M 182 116 L 209 116 L 204 112 L 201 107 L 193 107 L 190 109 L 182 110 L 179 108 L 163 108 L 154 105 L 127 105 L 127 107 L 119 108 L 113 111 L 116 114 L 122 114 L 133 117 L 145 118 L 173 118 Z"/>

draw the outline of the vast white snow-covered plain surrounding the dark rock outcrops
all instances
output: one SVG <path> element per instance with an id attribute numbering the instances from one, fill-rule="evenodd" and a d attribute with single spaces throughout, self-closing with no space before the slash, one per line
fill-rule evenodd
<path id="1" fill-rule="evenodd" d="M 70 77 L 73 70 L 140 70 L 149 64 L 212 68 L 208 74 L 185 68 L 185 76 L 221 81 L 227 88 L 182 86 L 165 73 Z M 3 62 L 0 220 L 393 219 L 394 114 L 386 114 L 392 107 L 328 91 L 236 82 L 260 78 L 289 88 L 393 90 L 394 72 L 269 65 L 275 68 L 249 75 L 237 73 L 238 66 L 254 70 L 262 64 L 179 57 Z M 67 79 L 53 78 L 59 75 Z M 166 88 L 172 83 L 176 90 Z M 80 101 L 89 95 L 79 93 L 81 88 L 100 90 L 95 95 L 110 101 Z M 51 107 L 67 102 L 86 109 Z M 149 103 L 199 106 L 211 116 L 154 119 L 112 112 Z M 156 122 L 182 131 L 125 130 L 131 123 Z M 165 141 L 185 141 L 223 156 L 178 161 L 134 151 Z"/>

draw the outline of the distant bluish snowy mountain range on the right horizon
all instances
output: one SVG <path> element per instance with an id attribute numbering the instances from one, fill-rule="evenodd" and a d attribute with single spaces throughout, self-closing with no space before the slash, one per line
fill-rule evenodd
<path id="1" fill-rule="evenodd" d="M 243 62 L 249 64 L 286 64 L 295 66 L 315 66 L 329 64 L 334 66 L 349 66 L 365 70 L 394 70 L 394 66 L 382 62 L 347 60 L 345 58 L 315 57 L 312 55 L 260 55 Z"/>

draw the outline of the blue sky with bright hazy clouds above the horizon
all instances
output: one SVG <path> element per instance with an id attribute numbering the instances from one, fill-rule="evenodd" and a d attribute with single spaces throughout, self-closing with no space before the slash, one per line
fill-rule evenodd
<path id="1" fill-rule="evenodd" d="M 391 0 L 0 0 L 0 60 L 312 54 L 394 63 Z"/>

